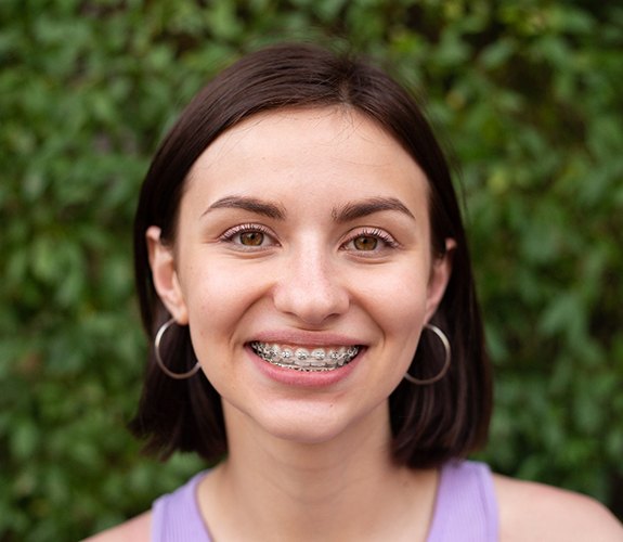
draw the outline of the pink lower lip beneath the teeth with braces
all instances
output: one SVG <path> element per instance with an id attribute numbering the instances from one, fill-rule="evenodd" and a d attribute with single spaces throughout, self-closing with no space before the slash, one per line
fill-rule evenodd
<path id="1" fill-rule="evenodd" d="M 297 371 L 296 369 L 281 367 L 269 363 L 254 352 L 248 345 L 246 350 L 258 370 L 271 380 L 286 386 L 299 386 L 306 388 L 333 386 L 348 378 L 365 353 L 365 349 L 361 348 L 352 361 L 341 367 L 334 369 L 333 371 Z"/>

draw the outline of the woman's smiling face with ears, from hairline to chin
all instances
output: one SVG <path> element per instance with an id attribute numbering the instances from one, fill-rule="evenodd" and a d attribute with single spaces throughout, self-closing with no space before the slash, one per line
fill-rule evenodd
<path id="1" fill-rule="evenodd" d="M 147 238 L 158 294 L 190 325 L 226 420 L 298 442 L 388 427 L 450 274 L 427 191 L 413 158 L 350 109 L 256 115 L 203 153 L 174 242 Z"/>

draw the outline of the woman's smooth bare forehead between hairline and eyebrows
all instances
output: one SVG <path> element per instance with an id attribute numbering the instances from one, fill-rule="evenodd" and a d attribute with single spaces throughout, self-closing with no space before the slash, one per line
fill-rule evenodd
<path id="1" fill-rule="evenodd" d="M 217 138 L 193 165 L 186 189 L 212 192 L 341 191 L 361 195 L 427 191 L 413 157 L 377 122 L 351 107 L 254 115 Z M 369 194 L 368 194 L 369 192 Z"/>

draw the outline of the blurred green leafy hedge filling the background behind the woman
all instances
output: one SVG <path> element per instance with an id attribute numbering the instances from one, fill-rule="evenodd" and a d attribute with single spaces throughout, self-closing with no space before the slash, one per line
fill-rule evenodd
<path id="1" fill-rule="evenodd" d="M 621 7 L 3 0 L 0 539 L 83 537 L 199 468 L 146 461 L 124 428 L 145 350 L 133 207 L 203 82 L 283 39 L 350 43 L 425 93 L 462 165 L 496 367 L 484 457 L 623 516 Z"/>

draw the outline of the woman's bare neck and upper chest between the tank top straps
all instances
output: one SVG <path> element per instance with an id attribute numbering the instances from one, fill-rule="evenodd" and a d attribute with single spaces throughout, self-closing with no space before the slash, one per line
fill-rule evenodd
<path id="1" fill-rule="evenodd" d="M 387 406 L 372 416 L 376 423 L 368 417 L 336 438 L 301 443 L 269 436 L 225 406 L 231 453 L 199 493 L 215 538 L 400 540 L 388 535 L 394 529 L 424 540 L 437 474 L 397 466 Z M 414 518 L 416 527 L 403 525 Z"/>

